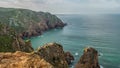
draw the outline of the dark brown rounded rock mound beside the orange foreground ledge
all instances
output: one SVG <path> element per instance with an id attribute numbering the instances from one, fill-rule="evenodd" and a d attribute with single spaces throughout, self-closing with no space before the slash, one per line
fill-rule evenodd
<path id="1" fill-rule="evenodd" d="M 44 58 L 55 68 L 68 68 L 68 64 L 64 56 L 63 47 L 60 44 L 48 43 L 38 48 L 35 54 Z"/>

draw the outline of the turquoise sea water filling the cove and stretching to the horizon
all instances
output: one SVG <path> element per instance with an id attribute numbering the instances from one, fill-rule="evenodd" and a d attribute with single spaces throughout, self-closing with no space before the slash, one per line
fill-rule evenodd
<path id="1" fill-rule="evenodd" d="M 99 63 L 103 68 L 120 68 L 120 14 L 57 16 L 68 25 L 31 38 L 35 49 L 48 42 L 58 42 L 74 55 L 75 64 L 83 49 L 90 46 L 101 54 Z"/>

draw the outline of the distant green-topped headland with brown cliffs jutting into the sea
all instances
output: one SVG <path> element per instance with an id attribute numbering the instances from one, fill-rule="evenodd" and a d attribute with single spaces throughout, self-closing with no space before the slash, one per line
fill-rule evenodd
<path id="1" fill-rule="evenodd" d="M 48 12 L 15 8 L 0 8 L 0 22 L 14 28 L 21 37 L 40 35 L 46 30 L 66 25 Z"/>

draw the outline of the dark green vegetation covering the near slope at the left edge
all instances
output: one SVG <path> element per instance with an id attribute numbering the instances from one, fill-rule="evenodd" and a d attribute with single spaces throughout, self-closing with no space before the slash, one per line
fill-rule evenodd
<path id="1" fill-rule="evenodd" d="M 9 29 L 10 31 L 7 31 L 9 28 L 0 23 L 0 52 L 13 52 L 14 49 L 12 48 L 12 42 L 13 42 L 13 35 L 14 32 L 12 29 Z"/>

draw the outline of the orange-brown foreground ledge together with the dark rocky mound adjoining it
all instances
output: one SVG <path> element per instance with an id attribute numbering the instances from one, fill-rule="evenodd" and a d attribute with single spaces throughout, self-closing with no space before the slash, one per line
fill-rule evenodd
<path id="1" fill-rule="evenodd" d="M 0 53 L 0 68 L 68 68 L 65 57 L 60 44 L 48 43 L 32 53 Z"/>

